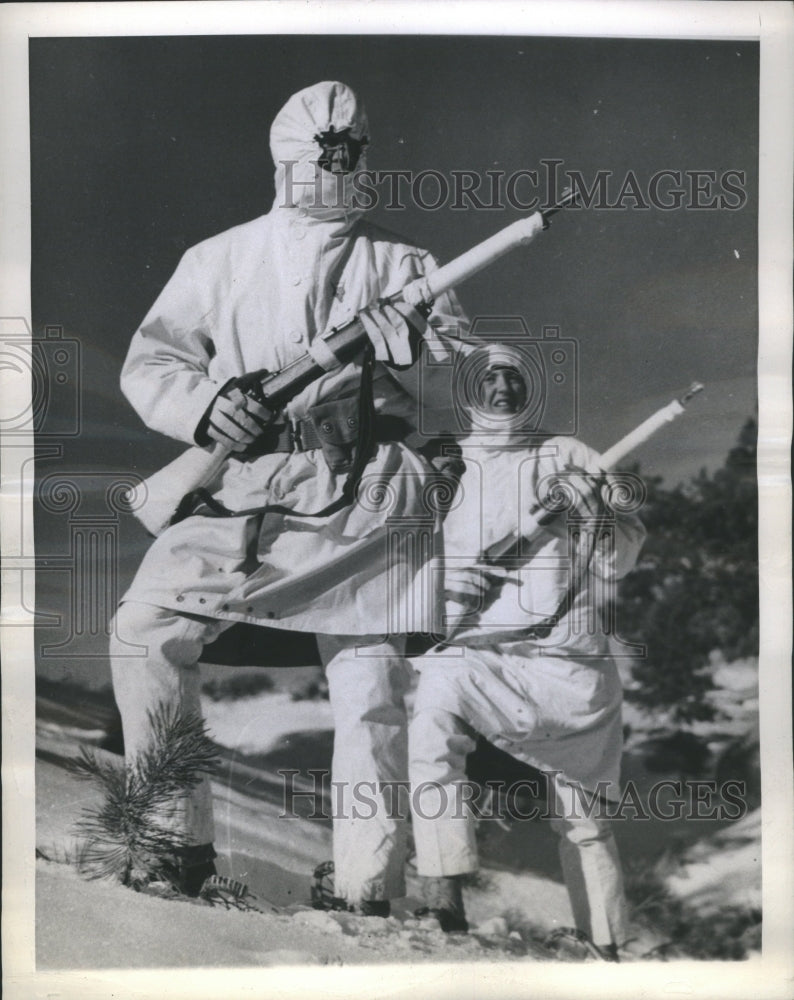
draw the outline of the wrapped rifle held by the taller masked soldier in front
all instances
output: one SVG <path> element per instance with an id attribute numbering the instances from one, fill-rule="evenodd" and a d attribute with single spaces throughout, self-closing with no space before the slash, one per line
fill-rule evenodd
<path id="1" fill-rule="evenodd" d="M 417 278 L 385 300 L 379 300 L 378 304 L 406 303 L 414 309 L 432 306 L 443 292 L 466 281 L 516 247 L 531 243 L 539 232 L 549 228 L 551 216 L 574 204 L 575 200 L 574 192 L 564 191 L 550 208 L 506 226 L 432 274 Z M 245 391 L 269 410 L 277 412 L 325 372 L 351 361 L 367 342 L 361 321 L 353 316 L 317 338 L 305 354 L 280 371 L 262 370 L 244 376 Z M 143 500 L 139 502 L 131 496 L 130 509 L 147 531 L 159 535 L 171 523 L 182 497 L 210 482 L 230 454 L 231 449 L 220 443 L 208 448 L 189 448 L 143 481 L 139 487 Z"/>

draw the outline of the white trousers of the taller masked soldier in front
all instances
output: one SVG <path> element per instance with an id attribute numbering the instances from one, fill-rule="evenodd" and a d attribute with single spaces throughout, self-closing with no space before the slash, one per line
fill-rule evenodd
<path id="1" fill-rule="evenodd" d="M 198 661 L 206 644 L 231 627 L 167 608 L 125 601 L 110 641 L 116 703 L 128 759 L 151 739 L 148 713 L 160 703 L 201 714 Z M 403 642 L 368 644 L 361 636 L 318 636 L 334 717 L 335 893 L 348 902 L 405 895 L 405 820 L 387 808 L 380 787 L 407 774 L 404 695 L 409 672 Z M 371 640 L 369 640 L 371 642 Z M 141 647 L 139 654 L 130 643 Z M 364 783 L 377 807 L 358 818 L 356 789 Z M 370 813 L 372 813 L 370 817 Z M 212 790 L 205 778 L 167 817 L 194 844 L 215 839 Z"/>

